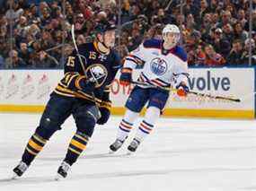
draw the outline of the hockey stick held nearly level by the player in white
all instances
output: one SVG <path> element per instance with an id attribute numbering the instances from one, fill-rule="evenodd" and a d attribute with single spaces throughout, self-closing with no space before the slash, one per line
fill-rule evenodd
<path id="1" fill-rule="evenodd" d="M 160 86 L 156 86 L 156 85 L 152 85 L 152 84 L 147 84 L 144 82 L 131 82 L 133 84 L 137 84 L 137 85 L 143 85 L 149 88 L 156 88 L 156 89 L 160 89 L 163 91 L 177 91 L 177 89 L 173 89 L 173 88 L 168 88 L 168 87 L 160 87 Z M 224 97 L 224 96 L 214 96 L 211 94 L 207 94 L 207 93 L 200 93 L 200 92 L 196 92 L 196 91 L 189 91 L 188 94 L 194 94 L 200 97 L 207 97 L 210 99 L 216 99 L 216 100 L 230 100 L 230 101 L 234 101 L 234 102 L 241 102 L 240 99 L 234 99 L 234 98 L 229 98 L 229 97 Z"/>

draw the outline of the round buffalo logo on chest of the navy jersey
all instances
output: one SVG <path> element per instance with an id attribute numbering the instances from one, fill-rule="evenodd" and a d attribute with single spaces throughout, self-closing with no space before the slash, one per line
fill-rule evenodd
<path id="1" fill-rule="evenodd" d="M 90 65 L 86 69 L 86 74 L 89 81 L 95 82 L 96 83 L 95 87 L 99 88 L 106 81 L 108 76 L 108 71 L 104 67 L 104 65 L 95 64 L 95 65 Z"/>

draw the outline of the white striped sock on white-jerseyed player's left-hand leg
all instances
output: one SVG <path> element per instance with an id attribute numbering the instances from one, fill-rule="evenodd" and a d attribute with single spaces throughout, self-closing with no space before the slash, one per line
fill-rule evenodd
<path id="1" fill-rule="evenodd" d="M 128 137 L 128 134 L 131 131 L 133 123 L 137 119 L 138 114 L 139 113 L 127 109 L 125 116 L 119 124 L 117 139 L 123 142 Z"/>

